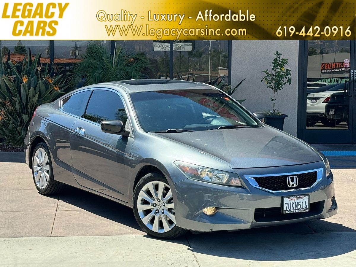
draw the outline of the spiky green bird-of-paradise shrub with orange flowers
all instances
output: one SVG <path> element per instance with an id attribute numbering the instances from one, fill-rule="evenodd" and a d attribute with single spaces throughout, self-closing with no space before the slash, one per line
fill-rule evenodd
<path id="1" fill-rule="evenodd" d="M 41 54 L 32 62 L 31 51 L 22 62 L 0 62 L 0 136 L 4 142 L 23 147 L 28 125 L 37 106 L 49 103 L 68 91 L 66 79 L 40 64 Z"/>

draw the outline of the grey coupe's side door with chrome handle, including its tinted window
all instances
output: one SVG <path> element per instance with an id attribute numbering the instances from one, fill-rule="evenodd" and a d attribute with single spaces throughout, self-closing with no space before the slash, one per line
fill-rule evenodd
<path id="1" fill-rule="evenodd" d="M 103 120 L 121 120 L 130 136 L 101 131 Z M 110 89 L 94 89 L 70 138 L 73 174 L 80 185 L 128 201 L 127 172 L 133 144 L 129 125 L 121 95 Z"/>

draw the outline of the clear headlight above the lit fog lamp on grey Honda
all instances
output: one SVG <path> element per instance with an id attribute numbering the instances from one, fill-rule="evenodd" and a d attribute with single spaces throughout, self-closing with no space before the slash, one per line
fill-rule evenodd
<path id="1" fill-rule="evenodd" d="M 219 171 L 216 169 L 206 168 L 182 161 L 175 161 L 174 164 L 189 179 L 195 179 L 216 184 L 242 186 L 241 181 L 237 176 L 237 173 Z"/>

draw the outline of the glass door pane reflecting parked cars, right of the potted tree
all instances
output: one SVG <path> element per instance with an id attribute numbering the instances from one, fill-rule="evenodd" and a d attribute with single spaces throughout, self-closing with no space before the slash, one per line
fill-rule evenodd
<path id="1" fill-rule="evenodd" d="M 312 40 L 307 53 L 303 139 L 309 143 L 355 142 L 355 41 Z"/>

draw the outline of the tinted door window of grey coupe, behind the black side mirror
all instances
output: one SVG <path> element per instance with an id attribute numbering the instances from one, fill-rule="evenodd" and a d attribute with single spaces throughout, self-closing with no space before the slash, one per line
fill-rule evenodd
<path id="1" fill-rule="evenodd" d="M 111 91 L 94 90 L 84 118 L 100 123 L 103 120 L 121 120 L 126 124 L 127 115 L 120 96 Z"/>

